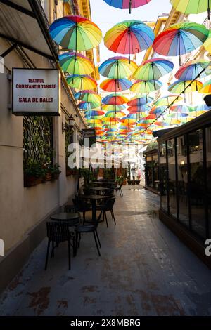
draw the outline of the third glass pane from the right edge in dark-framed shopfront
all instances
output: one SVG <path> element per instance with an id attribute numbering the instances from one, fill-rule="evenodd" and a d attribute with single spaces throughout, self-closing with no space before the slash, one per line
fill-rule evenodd
<path id="1" fill-rule="evenodd" d="M 177 191 L 179 221 L 189 227 L 188 212 L 188 159 L 186 136 L 177 138 Z"/>

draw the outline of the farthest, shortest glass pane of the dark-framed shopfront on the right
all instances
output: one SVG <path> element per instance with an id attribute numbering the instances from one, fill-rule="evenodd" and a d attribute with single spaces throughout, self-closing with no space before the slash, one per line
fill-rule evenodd
<path id="1" fill-rule="evenodd" d="M 167 161 L 165 142 L 159 145 L 160 153 L 160 202 L 161 208 L 167 211 Z"/>

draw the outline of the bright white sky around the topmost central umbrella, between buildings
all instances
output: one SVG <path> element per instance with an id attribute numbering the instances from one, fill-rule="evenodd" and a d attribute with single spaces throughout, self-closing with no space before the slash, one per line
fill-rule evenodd
<path id="1" fill-rule="evenodd" d="M 162 13 L 169 13 L 172 6 L 170 0 L 151 0 L 149 4 L 132 9 L 132 14 L 128 10 L 118 9 L 106 4 L 103 0 L 90 0 L 91 19 L 103 32 L 103 37 L 113 25 L 122 20 L 141 20 L 152 21 L 157 20 Z M 101 41 L 101 62 L 115 56 L 115 53 L 108 51 Z"/>

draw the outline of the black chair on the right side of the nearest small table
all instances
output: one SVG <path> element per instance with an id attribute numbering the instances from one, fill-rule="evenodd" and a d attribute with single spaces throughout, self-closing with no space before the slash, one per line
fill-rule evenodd
<path id="1" fill-rule="evenodd" d="M 98 251 L 98 256 L 101 256 L 101 252 L 100 252 L 100 249 L 98 247 L 98 244 L 99 244 L 99 246 L 101 248 L 101 242 L 100 242 L 100 239 L 98 237 L 97 226 L 98 226 L 98 220 L 96 220 L 96 223 L 95 224 L 91 224 L 91 225 L 78 225 L 77 227 L 75 227 L 75 235 L 76 235 L 76 239 L 75 239 L 75 241 L 76 241 L 76 244 L 75 244 L 75 256 L 77 254 L 77 247 L 79 247 L 80 240 L 82 238 L 82 234 L 86 234 L 87 232 L 93 232 L 94 242 L 96 244 L 96 248 L 97 248 L 97 251 Z"/>

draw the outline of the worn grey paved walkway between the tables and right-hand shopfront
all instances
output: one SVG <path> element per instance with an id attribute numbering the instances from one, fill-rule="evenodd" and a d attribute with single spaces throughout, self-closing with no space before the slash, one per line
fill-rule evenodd
<path id="1" fill-rule="evenodd" d="M 82 237 L 72 269 L 67 246 L 44 271 L 46 240 L 0 300 L 0 315 L 211 315 L 211 272 L 158 220 L 158 196 L 124 187 L 115 226 L 101 223 L 101 258 Z"/>

